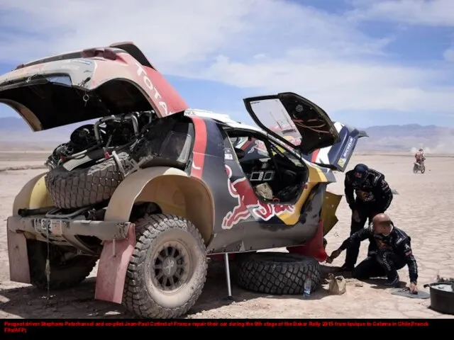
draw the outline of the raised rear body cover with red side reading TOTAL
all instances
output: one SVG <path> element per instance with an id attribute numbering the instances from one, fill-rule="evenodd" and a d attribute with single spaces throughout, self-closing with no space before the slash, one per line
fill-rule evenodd
<path id="1" fill-rule="evenodd" d="M 0 103 L 35 131 L 106 115 L 153 110 L 162 118 L 187 109 L 132 42 L 21 65 L 0 77 Z"/>

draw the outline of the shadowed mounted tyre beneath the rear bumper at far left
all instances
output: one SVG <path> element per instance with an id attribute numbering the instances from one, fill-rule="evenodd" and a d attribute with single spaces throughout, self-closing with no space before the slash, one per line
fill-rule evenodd
<path id="1" fill-rule="evenodd" d="M 49 244 L 50 247 L 57 247 Z M 48 244 L 36 240 L 27 240 L 28 263 L 32 285 L 46 290 L 48 279 L 45 273 L 45 262 L 48 257 Z M 55 261 L 50 261 L 51 290 L 73 288 L 79 285 L 92 272 L 98 259 L 93 256 L 76 256 L 68 261 L 67 266 L 62 266 Z"/>

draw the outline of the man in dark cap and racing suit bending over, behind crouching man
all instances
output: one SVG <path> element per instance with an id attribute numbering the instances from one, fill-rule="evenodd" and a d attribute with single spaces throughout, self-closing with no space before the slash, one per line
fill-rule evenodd
<path id="1" fill-rule="evenodd" d="M 356 194 L 356 198 L 355 198 Z M 384 175 L 358 164 L 345 174 L 345 198 L 352 210 L 350 235 L 362 229 L 365 222 L 380 212 L 385 212 L 392 202 L 392 191 Z M 358 260 L 360 244 L 347 249 L 343 271 L 352 271 Z"/>

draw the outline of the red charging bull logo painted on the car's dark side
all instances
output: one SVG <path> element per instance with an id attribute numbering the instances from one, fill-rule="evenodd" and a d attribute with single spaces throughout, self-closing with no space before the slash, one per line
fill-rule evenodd
<path id="1" fill-rule="evenodd" d="M 226 165 L 228 192 L 237 199 L 237 205 L 222 220 L 222 229 L 231 229 L 238 222 L 253 217 L 255 220 L 268 221 L 284 212 L 294 212 L 294 205 L 264 203 L 257 198 L 248 179 L 245 177 L 231 181 L 232 169 Z"/>

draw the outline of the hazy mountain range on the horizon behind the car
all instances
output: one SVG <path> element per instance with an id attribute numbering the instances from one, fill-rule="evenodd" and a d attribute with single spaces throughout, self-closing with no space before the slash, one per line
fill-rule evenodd
<path id="1" fill-rule="evenodd" d="M 32 132 L 21 118 L 0 118 L 0 149 L 53 149 L 67 142 L 80 124 Z M 358 142 L 358 151 L 413 151 L 423 147 L 434 154 L 454 154 L 454 128 L 436 125 L 381 125 L 364 129 L 369 135 Z"/>

